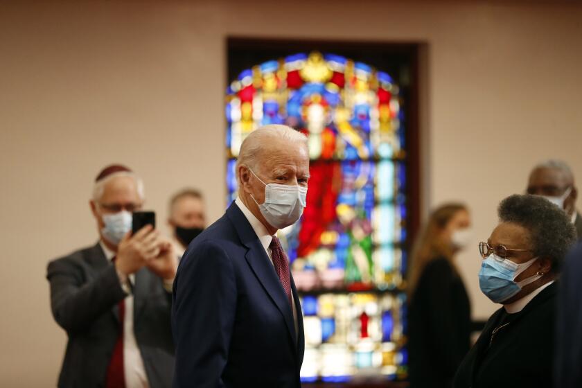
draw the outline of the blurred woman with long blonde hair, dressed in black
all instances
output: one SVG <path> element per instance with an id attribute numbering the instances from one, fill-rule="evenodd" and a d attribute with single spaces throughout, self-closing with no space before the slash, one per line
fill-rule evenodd
<path id="1" fill-rule="evenodd" d="M 470 303 L 455 265 L 470 243 L 469 228 L 466 206 L 445 204 L 416 241 L 408 286 L 410 388 L 451 387 L 469 350 Z"/>

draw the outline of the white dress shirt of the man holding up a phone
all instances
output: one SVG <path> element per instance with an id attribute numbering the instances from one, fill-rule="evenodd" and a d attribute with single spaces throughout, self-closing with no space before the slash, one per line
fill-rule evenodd
<path id="1" fill-rule="evenodd" d="M 112 261 L 115 252 L 107 249 L 102 241 L 99 242 L 103 253 L 108 261 Z M 129 279 L 132 283 L 135 282 L 134 274 L 130 274 Z M 126 281 L 119 279 L 121 287 L 127 292 L 125 297 L 125 316 L 123 317 L 123 369 L 125 374 L 125 387 L 127 388 L 148 388 L 148 376 L 145 374 L 145 367 L 141 359 L 141 353 L 137 342 L 135 340 L 135 333 L 133 330 L 134 321 L 134 297 L 131 294 L 131 288 L 127 287 Z"/>

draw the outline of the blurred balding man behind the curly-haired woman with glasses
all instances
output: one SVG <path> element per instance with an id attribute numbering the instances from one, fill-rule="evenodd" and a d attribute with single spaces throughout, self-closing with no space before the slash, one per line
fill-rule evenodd
<path id="1" fill-rule="evenodd" d="M 545 197 L 563 209 L 572 219 L 578 239 L 582 240 L 582 218 L 576 211 L 578 189 L 574 184 L 574 174 L 570 166 L 555 159 L 538 164 L 529 173 L 527 193 Z"/>

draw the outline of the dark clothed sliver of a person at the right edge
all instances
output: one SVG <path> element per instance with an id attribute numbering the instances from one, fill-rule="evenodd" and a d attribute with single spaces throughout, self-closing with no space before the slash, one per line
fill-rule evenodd
<path id="1" fill-rule="evenodd" d="M 567 256 L 558 292 L 554 387 L 582 387 L 582 243 Z"/>

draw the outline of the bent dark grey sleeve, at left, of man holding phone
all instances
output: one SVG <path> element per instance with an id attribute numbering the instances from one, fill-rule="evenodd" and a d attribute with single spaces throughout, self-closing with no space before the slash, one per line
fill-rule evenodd
<path id="1" fill-rule="evenodd" d="M 62 258 L 48 264 L 46 278 L 51 283 L 53 316 L 68 333 L 84 330 L 125 298 L 114 265 L 84 283 L 78 265 Z"/>

